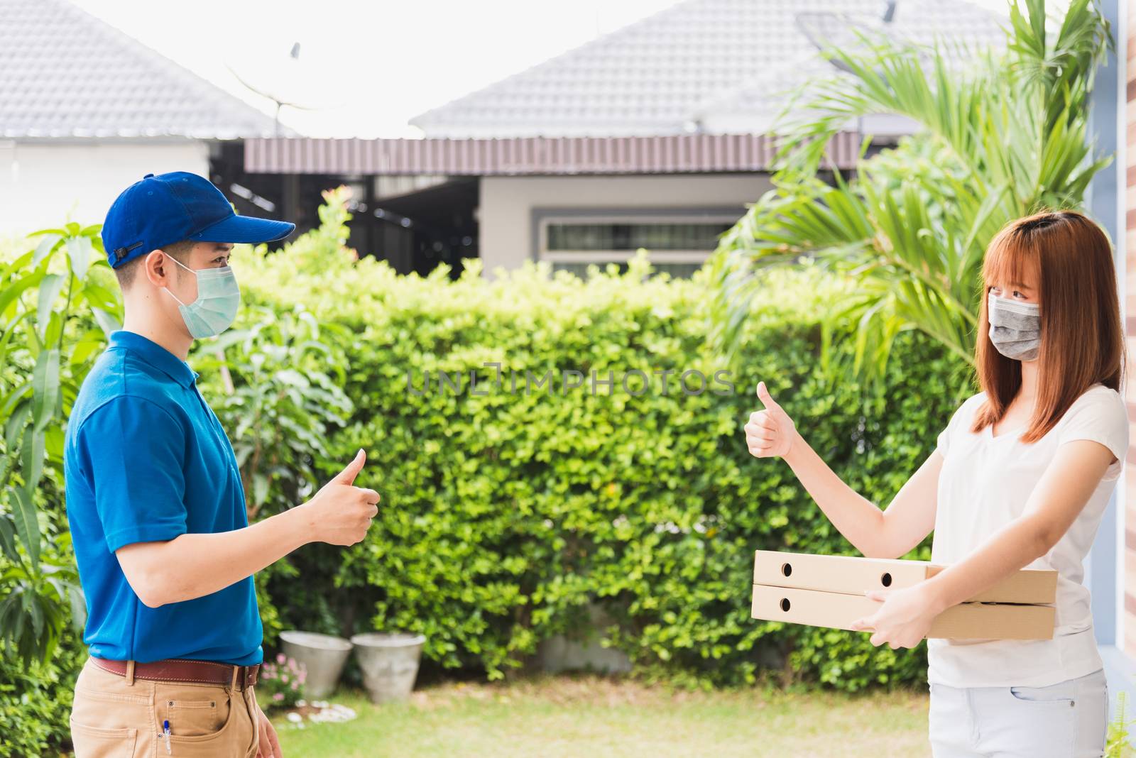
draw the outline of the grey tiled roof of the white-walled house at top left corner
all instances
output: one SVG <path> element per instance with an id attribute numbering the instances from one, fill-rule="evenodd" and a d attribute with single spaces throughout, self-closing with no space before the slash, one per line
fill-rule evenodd
<path id="1" fill-rule="evenodd" d="M 0 0 L 0 138 L 272 134 L 270 117 L 65 0 Z"/>

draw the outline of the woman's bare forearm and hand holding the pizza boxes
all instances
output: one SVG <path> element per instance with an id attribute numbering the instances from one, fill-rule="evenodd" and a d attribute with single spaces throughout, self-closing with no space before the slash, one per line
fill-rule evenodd
<path id="1" fill-rule="evenodd" d="M 902 590 L 877 590 L 883 600 L 853 630 L 875 630 L 872 645 L 912 648 L 927 635 L 932 621 L 946 608 L 989 589 L 1014 571 L 1049 553 L 1080 514 L 1093 490 L 1116 460 L 1100 443 L 1066 443 L 1037 481 L 1020 516 L 935 576 Z"/>

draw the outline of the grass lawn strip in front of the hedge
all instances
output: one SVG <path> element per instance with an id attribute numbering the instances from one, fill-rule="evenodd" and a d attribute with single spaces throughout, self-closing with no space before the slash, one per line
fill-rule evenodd
<path id="1" fill-rule="evenodd" d="M 359 718 L 276 721 L 287 758 L 928 756 L 927 696 L 673 692 L 599 677 L 443 684 L 407 702 L 333 698 Z"/>

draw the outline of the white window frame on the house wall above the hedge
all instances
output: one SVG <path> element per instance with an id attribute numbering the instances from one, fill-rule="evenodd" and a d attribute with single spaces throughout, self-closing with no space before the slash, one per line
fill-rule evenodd
<path id="1" fill-rule="evenodd" d="M 634 250 L 549 250 L 549 227 L 553 224 L 735 224 L 738 213 L 712 211 L 707 213 L 594 213 L 542 214 L 537 219 L 536 260 L 550 263 L 626 263 L 635 256 Z M 652 263 L 704 263 L 712 250 L 651 250 Z"/>

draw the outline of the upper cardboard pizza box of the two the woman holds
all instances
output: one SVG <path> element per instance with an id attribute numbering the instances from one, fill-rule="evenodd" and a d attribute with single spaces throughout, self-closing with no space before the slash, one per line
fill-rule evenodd
<path id="1" fill-rule="evenodd" d="M 926 561 L 757 550 L 753 583 L 863 595 L 866 590 L 911 587 L 930 579 L 945 567 Z M 1054 603 L 1056 587 L 1058 572 L 1024 568 L 967 601 Z"/>

